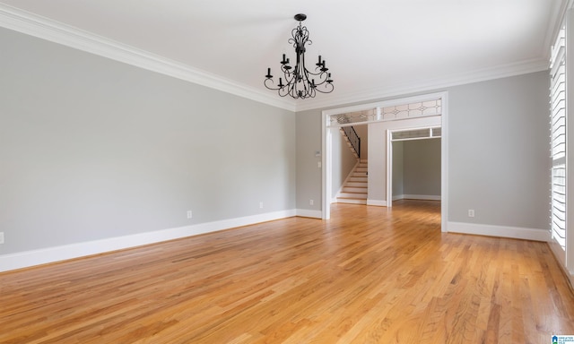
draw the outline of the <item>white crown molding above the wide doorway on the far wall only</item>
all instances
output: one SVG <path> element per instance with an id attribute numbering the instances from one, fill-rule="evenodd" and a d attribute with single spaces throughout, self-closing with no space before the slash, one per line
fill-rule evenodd
<path id="1" fill-rule="evenodd" d="M 305 99 L 305 102 L 297 103 L 296 111 L 335 106 L 339 107 L 345 104 L 373 101 L 375 99 L 386 99 L 390 97 L 414 94 L 417 92 L 427 92 L 430 90 L 441 90 L 447 87 L 464 85 L 466 83 L 484 82 L 520 74 L 545 71 L 548 67 L 549 62 L 544 58 L 527 60 L 514 64 L 502 64 L 492 68 L 485 68 L 467 73 L 457 73 L 448 77 L 426 81 L 392 84 L 374 90 L 337 94 L 336 96 L 331 96 L 331 94 L 329 95 L 330 97 L 324 97 L 322 99 Z"/>

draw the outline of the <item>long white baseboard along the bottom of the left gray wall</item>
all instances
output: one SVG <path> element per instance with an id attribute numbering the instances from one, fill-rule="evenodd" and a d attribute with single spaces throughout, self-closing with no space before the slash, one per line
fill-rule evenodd
<path id="1" fill-rule="evenodd" d="M 319 211 L 320 213 L 320 211 Z M 186 236 L 215 232 L 218 230 L 252 225 L 274 219 L 296 216 L 296 211 L 275 211 L 236 219 L 223 219 L 197 225 L 138 233 L 131 236 L 117 236 L 72 245 L 48 247 L 39 250 L 4 254 L 0 256 L 0 272 L 28 268 L 48 262 L 59 262 L 92 254 L 103 254 L 125 248 L 160 243 Z M 320 216 L 319 216 L 320 218 Z"/>

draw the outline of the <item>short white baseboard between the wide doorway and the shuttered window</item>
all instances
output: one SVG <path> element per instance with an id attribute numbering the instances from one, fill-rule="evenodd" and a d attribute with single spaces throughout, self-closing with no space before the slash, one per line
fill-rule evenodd
<path id="1" fill-rule="evenodd" d="M 449 233 L 474 234 L 478 236 L 500 236 L 514 239 L 548 241 L 550 232 L 547 229 L 493 226 L 477 223 L 448 222 Z"/>

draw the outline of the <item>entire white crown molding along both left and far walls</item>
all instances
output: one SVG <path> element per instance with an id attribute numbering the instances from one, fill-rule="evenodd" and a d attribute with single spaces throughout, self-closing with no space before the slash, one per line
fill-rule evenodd
<path id="1" fill-rule="evenodd" d="M 568 4 L 571 5 L 572 1 L 568 0 Z M 563 11 L 563 7 L 561 7 L 561 11 Z M 558 17 L 557 13 L 554 13 L 554 17 Z M 142 49 L 131 47 L 37 14 L 28 13 L 6 4 L 0 4 L 0 27 L 293 112 L 337 107 L 345 104 L 372 101 L 373 99 L 385 99 L 421 91 L 438 90 L 465 83 L 482 82 L 523 73 L 534 73 L 548 69 L 549 64 L 543 56 L 540 59 L 518 62 L 516 64 L 504 64 L 494 68 L 427 81 L 392 84 L 375 90 L 362 90 L 346 94 L 331 93 L 321 99 L 293 101 L 277 98 L 276 94 L 257 90 L 187 64 L 157 56 Z"/>

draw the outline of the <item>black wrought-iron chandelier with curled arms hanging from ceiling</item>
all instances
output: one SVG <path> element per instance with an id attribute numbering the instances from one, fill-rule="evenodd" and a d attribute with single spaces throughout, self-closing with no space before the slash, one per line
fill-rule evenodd
<path id="1" fill-rule="evenodd" d="M 307 19 L 305 14 L 295 15 L 295 20 L 299 22 L 299 26 L 291 30 L 292 39 L 288 40 L 295 48 L 295 55 L 297 56 L 295 66 L 291 66 L 289 58 L 285 58 L 285 54 L 283 54 L 283 61 L 280 62 L 283 77 L 279 78 L 277 85 L 273 80 L 271 68 L 267 68 L 265 87 L 269 90 L 277 90 L 281 97 L 290 95 L 293 99 L 314 98 L 317 92 L 330 93 L 334 89 L 331 73 L 327 73 L 329 69 L 321 56 L 319 56 L 313 72 L 305 66 L 305 44 L 313 43 L 309 39 L 309 30 L 301 25 L 305 19 Z"/>

